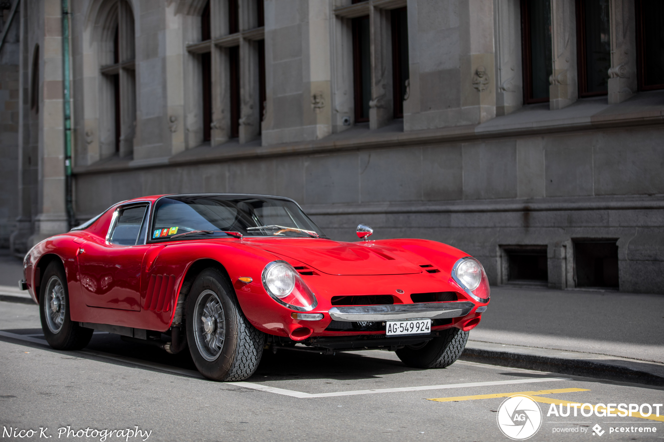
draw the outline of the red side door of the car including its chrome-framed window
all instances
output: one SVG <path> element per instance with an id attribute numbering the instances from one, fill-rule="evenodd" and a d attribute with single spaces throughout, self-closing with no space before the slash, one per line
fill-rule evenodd
<path id="1" fill-rule="evenodd" d="M 118 206 L 106 238 L 94 237 L 77 252 L 82 298 L 90 307 L 141 309 L 141 266 L 149 202 Z"/>

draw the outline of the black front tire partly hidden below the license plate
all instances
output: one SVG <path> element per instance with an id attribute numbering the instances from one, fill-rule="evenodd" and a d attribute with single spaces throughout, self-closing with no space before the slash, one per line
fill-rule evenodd
<path id="1" fill-rule="evenodd" d="M 457 328 L 440 332 L 441 336 L 424 345 L 406 345 L 396 355 L 407 366 L 414 368 L 445 368 L 459 359 L 470 332 Z"/>

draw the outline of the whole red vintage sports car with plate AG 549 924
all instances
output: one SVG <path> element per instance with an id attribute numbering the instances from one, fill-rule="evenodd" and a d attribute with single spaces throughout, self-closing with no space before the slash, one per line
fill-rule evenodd
<path id="1" fill-rule="evenodd" d="M 333 241 L 284 197 L 142 197 L 33 247 L 20 285 L 54 349 L 109 331 L 188 348 L 215 380 L 248 378 L 266 350 L 388 349 L 408 366 L 452 364 L 489 303 L 482 265 L 442 243 L 371 233 L 359 225 L 362 241 Z"/>

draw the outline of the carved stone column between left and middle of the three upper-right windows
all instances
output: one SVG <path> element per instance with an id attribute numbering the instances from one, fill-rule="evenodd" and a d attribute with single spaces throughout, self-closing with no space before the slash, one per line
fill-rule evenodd
<path id="1" fill-rule="evenodd" d="M 576 7 L 574 0 L 551 0 L 553 74 L 549 77 L 549 106 L 562 109 L 578 98 L 576 72 Z"/>

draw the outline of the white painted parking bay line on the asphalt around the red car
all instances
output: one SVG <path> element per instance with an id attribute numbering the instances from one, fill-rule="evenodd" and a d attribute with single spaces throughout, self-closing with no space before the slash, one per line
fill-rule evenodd
<path id="1" fill-rule="evenodd" d="M 9 333 L 7 331 L 0 331 L 0 336 L 20 339 L 21 341 L 28 341 L 35 344 L 46 345 L 48 343 L 44 339 L 37 339 L 31 336 L 26 335 L 17 335 L 16 333 Z M 204 379 L 203 375 L 200 372 L 194 370 L 187 370 L 186 368 L 177 368 L 174 366 L 169 366 L 165 364 L 159 364 L 157 362 L 148 362 L 146 360 L 134 359 L 124 356 L 112 355 L 110 353 L 105 353 L 103 351 L 90 351 L 90 350 L 79 350 L 79 353 L 84 353 L 85 355 L 91 355 L 96 357 L 103 357 L 107 359 L 119 360 L 121 362 L 128 362 L 129 364 L 136 364 L 141 366 L 146 366 L 149 368 L 156 368 L 157 370 L 163 370 L 167 372 L 184 374 L 185 376 L 192 376 L 194 378 Z M 556 380 L 571 380 L 570 378 L 529 378 L 529 379 L 514 379 L 514 380 L 493 380 L 488 382 L 466 382 L 465 384 L 446 384 L 446 385 L 426 385 L 418 387 L 398 387 L 398 388 L 378 388 L 376 390 L 353 390 L 348 392 L 333 392 L 333 393 L 304 393 L 296 392 L 295 390 L 286 390 L 284 388 L 270 387 L 261 384 L 254 384 L 252 382 L 224 382 L 228 385 L 236 385 L 244 388 L 251 388 L 252 390 L 260 390 L 262 392 L 282 394 L 284 396 L 291 396 L 292 398 L 330 398 L 334 396 L 354 396 L 357 394 L 374 394 L 374 393 L 394 393 L 394 392 L 415 392 L 421 390 L 444 390 L 446 388 L 466 388 L 466 387 L 481 387 L 481 386 L 491 386 L 491 385 L 511 385 L 511 384 L 531 384 L 534 382 L 553 382 Z"/>

